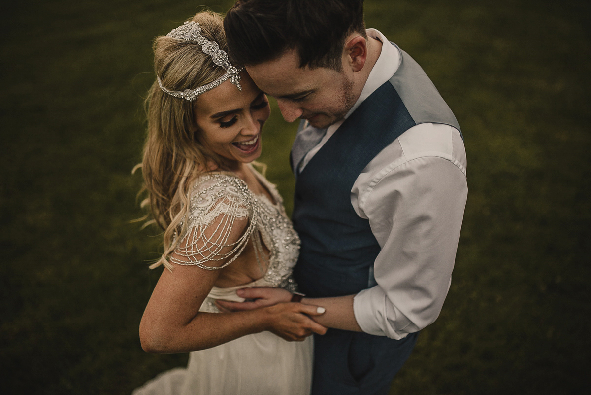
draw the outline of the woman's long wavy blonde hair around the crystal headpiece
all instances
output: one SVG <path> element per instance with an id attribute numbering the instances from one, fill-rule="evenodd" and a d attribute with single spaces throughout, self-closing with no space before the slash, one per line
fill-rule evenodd
<path id="1" fill-rule="evenodd" d="M 222 15 L 203 11 L 190 21 L 199 22 L 203 37 L 228 51 Z M 154 70 L 163 86 L 177 91 L 198 88 L 225 73 L 195 41 L 174 40 L 165 35 L 154 40 Z M 141 206 L 149 207 L 152 216 L 144 226 L 157 224 L 164 231 L 164 253 L 150 268 L 163 264 L 172 270 L 167 257 L 187 230 L 186 221 L 183 226 L 180 224 L 189 211 L 191 181 L 205 171 L 229 171 L 225 158 L 199 142 L 194 114 L 199 99 L 190 102 L 174 98 L 154 82 L 145 101 L 147 137 L 142 163 L 135 169 L 141 167 L 144 186 L 140 193 L 148 195 Z"/>

